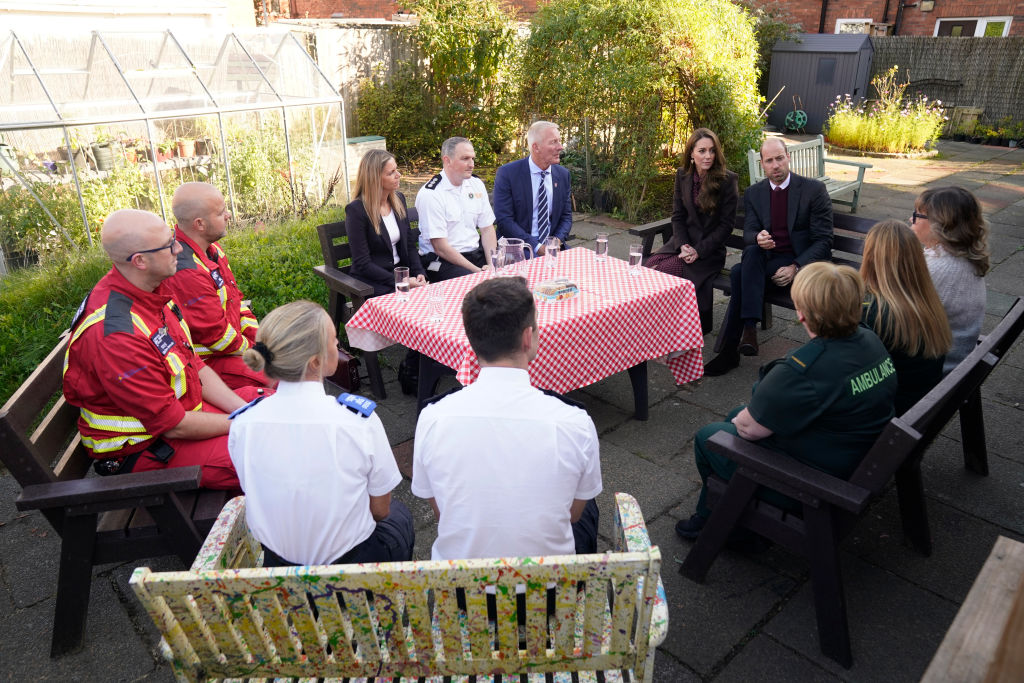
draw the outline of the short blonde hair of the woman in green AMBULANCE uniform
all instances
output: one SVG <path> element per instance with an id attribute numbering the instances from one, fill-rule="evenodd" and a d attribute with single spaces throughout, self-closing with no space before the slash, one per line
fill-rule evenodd
<path id="1" fill-rule="evenodd" d="M 849 337 L 857 331 L 864 283 L 850 266 L 809 263 L 797 272 L 792 295 L 807 328 L 818 337 Z"/>

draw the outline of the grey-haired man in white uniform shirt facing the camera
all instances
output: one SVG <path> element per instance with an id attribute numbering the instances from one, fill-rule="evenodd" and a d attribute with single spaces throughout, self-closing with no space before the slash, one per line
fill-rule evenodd
<path id="1" fill-rule="evenodd" d="M 420 260 L 432 283 L 489 267 L 497 246 L 495 213 L 483 181 L 473 175 L 476 153 L 465 137 L 441 144 L 440 173 L 416 195 Z"/>

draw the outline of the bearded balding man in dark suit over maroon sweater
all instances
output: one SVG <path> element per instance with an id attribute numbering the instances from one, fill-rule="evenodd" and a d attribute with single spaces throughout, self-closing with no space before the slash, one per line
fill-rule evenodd
<path id="1" fill-rule="evenodd" d="M 768 281 L 788 287 L 797 271 L 831 257 L 831 199 L 824 183 L 790 172 L 790 153 L 777 137 L 761 145 L 765 179 L 743 193 L 743 256 L 732 266 L 732 287 L 719 351 L 705 375 L 724 375 L 739 356 L 758 354 L 758 323 Z"/>

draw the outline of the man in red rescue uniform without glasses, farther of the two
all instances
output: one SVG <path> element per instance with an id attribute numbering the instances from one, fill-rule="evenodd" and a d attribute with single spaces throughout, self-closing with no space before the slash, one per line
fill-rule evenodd
<path id="1" fill-rule="evenodd" d="M 258 323 L 248 306 L 217 241 L 227 231 L 231 212 L 224 196 L 207 182 L 186 182 L 174 191 L 171 210 L 181 243 L 177 272 L 166 287 L 181 306 L 196 352 L 232 389 L 266 386 L 242 353 L 256 343 Z"/>

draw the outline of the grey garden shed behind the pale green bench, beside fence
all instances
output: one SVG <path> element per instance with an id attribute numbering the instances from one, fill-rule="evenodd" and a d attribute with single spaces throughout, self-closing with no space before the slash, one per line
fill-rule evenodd
<path id="1" fill-rule="evenodd" d="M 863 34 L 801 34 L 796 41 L 775 43 L 768 96 L 785 89 L 768 112 L 768 123 L 785 130 L 786 115 L 799 109 L 807 115 L 806 132 L 820 133 L 837 95 L 855 101 L 869 95 L 872 52 L 871 39 Z M 790 117 L 791 126 L 801 121 L 799 115 Z"/>

